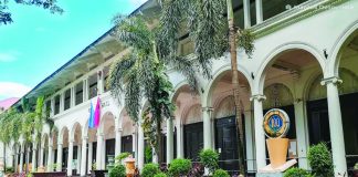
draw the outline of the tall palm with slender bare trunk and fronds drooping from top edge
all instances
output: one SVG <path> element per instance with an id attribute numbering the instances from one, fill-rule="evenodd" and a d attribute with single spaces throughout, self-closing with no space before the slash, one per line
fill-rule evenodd
<path id="1" fill-rule="evenodd" d="M 196 60 L 204 70 L 204 77 L 211 79 L 211 59 L 230 51 L 236 127 L 239 133 L 239 168 L 244 174 L 244 140 L 240 106 L 240 83 L 236 44 L 251 56 L 253 35 L 234 24 L 232 0 L 161 0 L 160 25 L 169 43 L 168 53 L 177 53 L 179 30 L 188 30 L 194 42 Z M 227 12 L 227 13 L 225 13 Z M 225 20 L 227 19 L 227 20 Z M 229 34 L 228 34 L 229 31 Z"/>

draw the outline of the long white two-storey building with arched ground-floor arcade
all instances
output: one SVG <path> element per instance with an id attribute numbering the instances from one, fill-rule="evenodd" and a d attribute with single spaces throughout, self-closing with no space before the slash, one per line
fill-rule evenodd
<path id="1" fill-rule="evenodd" d="M 252 59 L 238 53 L 248 170 L 255 173 L 267 164 L 263 114 L 280 107 L 289 115 L 289 156 L 297 158 L 299 167 L 309 169 L 309 145 L 327 142 L 336 176 L 347 173 L 358 162 L 358 1 L 243 0 L 234 7 L 236 23 L 257 34 Z M 154 0 L 139 9 L 144 13 L 159 10 Z M 180 51 L 192 52 L 188 38 L 180 41 Z M 50 134 L 45 125 L 41 145 L 29 149 L 21 140 L 13 142 L 7 159 L 15 166 L 24 157 L 32 159 L 33 167 L 56 163 L 56 170 L 67 169 L 71 176 L 71 169 L 84 175 L 93 162 L 104 169 L 108 155 L 133 152 L 143 168 L 143 129 L 104 84 L 109 64 L 126 52 L 106 33 L 25 95 L 50 95 L 45 106 L 51 107 L 50 117 L 59 131 Z M 222 168 L 236 169 L 230 69 L 229 54 L 214 60 L 213 79 L 202 80 L 203 91 L 197 96 L 181 74 L 168 71 L 177 105 L 175 118 L 162 128 L 168 163 L 176 157 L 196 160 L 199 149 L 214 148 L 221 153 Z M 97 97 L 102 100 L 101 125 L 91 129 L 88 108 Z M 34 162 L 36 155 L 39 162 Z"/>

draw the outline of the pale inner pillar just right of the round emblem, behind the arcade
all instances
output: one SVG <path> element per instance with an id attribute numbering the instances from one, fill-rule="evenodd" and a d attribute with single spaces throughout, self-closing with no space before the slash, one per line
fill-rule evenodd
<path id="1" fill-rule="evenodd" d="M 308 169 L 307 162 L 307 139 L 306 139 L 306 124 L 305 124 L 305 103 L 298 101 L 294 103 L 295 107 L 295 124 L 296 124 L 296 136 L 297 136 L 297 156 L 299 168 Z"/>

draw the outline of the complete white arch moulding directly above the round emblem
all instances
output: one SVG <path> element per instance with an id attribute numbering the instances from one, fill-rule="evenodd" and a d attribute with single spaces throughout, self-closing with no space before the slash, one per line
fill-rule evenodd
<path id="1" fill-rule="evenodd" d="M 277 59 L 277 56 L 280 56 L 280 54 L 283 54 L 283 53 L 289 52 L 289 51 L 294 51 L 294 50 L 302 50 L 302 51 L 310 53 L 318 62 L 318 65 L 320 66 L 322 71 L 325 71 L 326 65 L 325 65 L 324 56 L 319 53 L 319 51 L 316 48 L 314 48 L 313 45 L 310 45 L 308 43 L 304 43 L 304 42 L 284 43 L 284 44 L 278 45 L 277 48 L 275 48 L 271 53 L 268 53 L 265 56 L 265 61 L 260 65 L 257 72 L 256 72 L 257 76 L 254 81 L 254 85 L 256 87 L 254 87 L 253 92 L 255 94 L 263 94 L 266 71 L 275 62 L 275 59 Z"/>

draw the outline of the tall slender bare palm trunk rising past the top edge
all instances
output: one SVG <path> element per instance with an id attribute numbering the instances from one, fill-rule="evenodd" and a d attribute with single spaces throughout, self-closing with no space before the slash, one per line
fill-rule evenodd
<path id="1" fill-rule="evenodd" d="M 235 102 L 236 128 L 239 133 L 239 142 L 238 142 L 239 169 L 240 169 L 240 174 L 244 175 L 245 171 L 244 140 L 243 140 L 243 125 L 242 125 L 241 105 L 240 105 L 240 83 L 239 83 L 239 71 L 238 71 L 238 59 L 236 59 L 236 44 L 235 44 L 236 31 L 234 27 L 232 0 L 227 0 L 227 7 L 228 7 L 228 22 L 229 22 L 229 45 L 230 45 L 231 70 L 232 70 L 232 85 L 233 85 L 233 95 Z"/>

